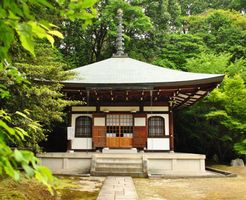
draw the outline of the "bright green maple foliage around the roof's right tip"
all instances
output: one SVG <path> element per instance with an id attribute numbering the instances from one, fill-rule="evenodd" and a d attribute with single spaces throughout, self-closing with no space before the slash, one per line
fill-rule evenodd
<path id="1" fill-rule="evenodd" d="M 186 140 L 177 143 L 190 143 L 197 152 L 210 157 L 216 154 L 221 161 L 232 158 L 237 152 L 243 154 L 246 136 L 246 87 L 245 60 L 230 63 L 229 54 L 201 53 L 197 58 L 187 61 L 187 69 L 193 72 L 226 73 L 220 88 L 215 89 L 203 102 L 180 111 L 178 118 L 185 124 L 191 116 L 196 116 L 191 127 L 178 125 Z M 242 77 L 241 77 L 242 75 Z M 183 116 L 187 119 L 184 119 Z M 195 130 L 195 131 L 194 131 Z M 202 139 L 201 139 L 202 138 Z M 189 141 L 190 140 L 190 141 Z M 199 144 L 199 145 L 198 145 Z"/>

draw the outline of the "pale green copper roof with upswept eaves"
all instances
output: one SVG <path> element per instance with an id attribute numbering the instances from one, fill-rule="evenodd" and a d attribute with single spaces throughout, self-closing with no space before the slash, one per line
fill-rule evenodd
<path id="1" fill-rule="evenodd" d="M 223 74 L 203 74 L 172 70 L 128 57 L 113 57 L 71 70 L 75 78 L 64 84 L 206 84 L 223 80 Z"/>

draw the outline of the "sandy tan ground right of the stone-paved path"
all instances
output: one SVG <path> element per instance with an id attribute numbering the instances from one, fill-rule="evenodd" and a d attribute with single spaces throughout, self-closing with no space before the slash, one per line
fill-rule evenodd
<path id="1" fill-rule="evenodd" d="M 246 200 L 246 167 L 214 165 L 231 178 L 134 179 L 140 200 Z M 146 189 L 148 188 L 148 189 Z"/>

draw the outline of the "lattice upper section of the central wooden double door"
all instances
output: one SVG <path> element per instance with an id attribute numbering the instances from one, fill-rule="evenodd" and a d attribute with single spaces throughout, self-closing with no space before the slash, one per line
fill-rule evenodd
<path id="1" fill-rule="evenodd" d="M 133 116 L 129 114 L 109 114 L 106 119 L 107 136 L 132 137 Z"/>

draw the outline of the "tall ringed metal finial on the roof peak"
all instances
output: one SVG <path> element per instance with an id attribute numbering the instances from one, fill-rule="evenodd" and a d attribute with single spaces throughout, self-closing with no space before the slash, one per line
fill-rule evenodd
<path id="1" fill-rule="evenodd" d="M 118 27 L 117 27 L 117 39 L 116 39 L 116 54 L 113 57 L 127 57 L 127 54 L 124 53 L 124 38 L 123 38 L 123 25 L 122 25 L 122 17 L 123 17 L 123 10 L 117 10 L 117 18 L 118 18 Z"/>

